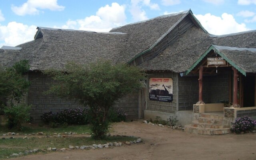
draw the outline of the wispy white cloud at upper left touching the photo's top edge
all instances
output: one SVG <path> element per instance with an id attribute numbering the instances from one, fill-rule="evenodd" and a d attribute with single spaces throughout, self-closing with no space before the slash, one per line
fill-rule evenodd
<path id="1" fill-rule="evenodd" d="M 28 0 L 22 6 L 18 7 L 12 4 L 11 7 L 12 11 L 19 16 L 39 14 L 44 9 L 61 11 L 64 8 L 57 4 L 57 0 Z"/>

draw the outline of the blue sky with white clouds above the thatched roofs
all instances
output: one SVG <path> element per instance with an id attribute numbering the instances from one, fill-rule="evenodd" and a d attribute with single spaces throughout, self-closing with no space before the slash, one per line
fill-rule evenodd
<path id="1" fill-rule="evenodd" d="M 210 34 L 256 30 L 256 0 L 0 0 L 0 47 L 34 40 L 37 26 L 109 32 L 189 9 Z"/>

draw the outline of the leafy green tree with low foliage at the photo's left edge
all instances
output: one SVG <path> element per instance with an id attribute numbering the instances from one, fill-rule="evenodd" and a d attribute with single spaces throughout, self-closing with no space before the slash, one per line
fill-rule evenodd
<path id="1" fill-rule="evenodd" d="M 9 68 L 0 68 L 0 98 L 10 98 L 10 106 L 4 106 L 9 128 L 21 129 L 21 124 L 29 120 L 30 106 L 20 105 L 24 94 L 28 92 L 30 82 L 24 77 L 30 66 L 28 60 L 21 60 Z M 3 102 L 2 102 L 3 103 Z"/>

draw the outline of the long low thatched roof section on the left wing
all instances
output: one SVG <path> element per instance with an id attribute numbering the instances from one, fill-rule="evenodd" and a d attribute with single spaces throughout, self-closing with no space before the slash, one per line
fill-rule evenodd
<path id="1" fill-rule="evenodd" d="M 126 34 L 56 30 L 38 27 L 35 40 L 22 47 L 15 61 L 28 59 L 31 70 L 61 69 L 68 61 L 89 63 L 97 58 L 118 61 Z"/>

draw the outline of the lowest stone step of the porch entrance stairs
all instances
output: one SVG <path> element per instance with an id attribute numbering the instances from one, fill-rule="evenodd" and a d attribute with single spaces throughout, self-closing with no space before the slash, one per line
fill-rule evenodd
<path id="1" fill-rule="evenodd" d="M 184 126 L 185 132 L 194 134 L 204 134 L 204 135 L 218 135 L 218 134 L 228 134 L 230 133 L 230 128 L 198 128 L 193 127 L 191 124 Z"/>

